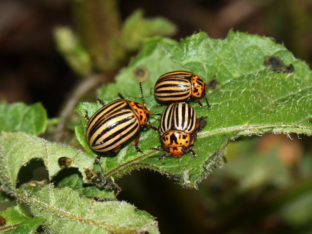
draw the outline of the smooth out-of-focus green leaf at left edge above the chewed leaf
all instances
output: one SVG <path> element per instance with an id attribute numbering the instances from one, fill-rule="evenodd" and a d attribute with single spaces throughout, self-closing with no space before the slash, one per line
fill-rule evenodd
<path id="1" fill-rule="evenodd" d="M 29 106 L 21 102 L 0 103 L 0 133 L 7 131 L 38 135 L 45 132 L 46 123 L 47 114 L 41 103 Z"/>

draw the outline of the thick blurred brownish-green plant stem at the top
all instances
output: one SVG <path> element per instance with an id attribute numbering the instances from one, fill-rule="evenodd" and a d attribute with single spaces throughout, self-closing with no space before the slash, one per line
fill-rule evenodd
<path id="1" fill-rule="evenodd" d="M 82 45 L 95 71 L 119 67 L 125 52 L 120 46 L 121 20 L 116 0 L 72 0 L 73 17 Z"/>

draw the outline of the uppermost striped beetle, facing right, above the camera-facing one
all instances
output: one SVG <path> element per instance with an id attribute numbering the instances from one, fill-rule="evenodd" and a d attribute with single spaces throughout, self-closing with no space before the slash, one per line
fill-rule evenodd
<path id="1" fill-rule="evenodd" d="M 207 106 L 207 85 L 202 78 L 190 71 L 171 71 L 158 78 L 154 87 L 156 99 L 164 103 L 189 101 L 192 98 L 202 106 L 199 101 L 205 96 Z"/>

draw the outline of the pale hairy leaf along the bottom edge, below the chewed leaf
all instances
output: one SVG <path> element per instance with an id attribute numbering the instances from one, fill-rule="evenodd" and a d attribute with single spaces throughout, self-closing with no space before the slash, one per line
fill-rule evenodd
<path id="1" fill-rule="evenodd" d="M 70 188 L 46 186 L 26 201 L 49 233 L 159 233 L 153 218 L 126 202 L 96 202 Z"/>

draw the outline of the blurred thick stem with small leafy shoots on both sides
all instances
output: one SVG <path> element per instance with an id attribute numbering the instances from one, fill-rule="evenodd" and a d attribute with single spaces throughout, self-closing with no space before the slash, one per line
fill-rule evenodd
<path id="1" fill-rule="evenodd" d="M 177 31 L 166 18 L 144 18 L 143 10 L 134 11 L 119 25 L 120 19 L 114 8 L 116 2 L 113 2 L 74 1 L 73 11 L 80 26 L 77 34 L 69 27 L 54 31 L 58 51 L 72 70 L 82 77 L 118 69 L 129 59 L 130 53 L 140 49 L 142 41 L 154 36 L 172 36 Z"/>

